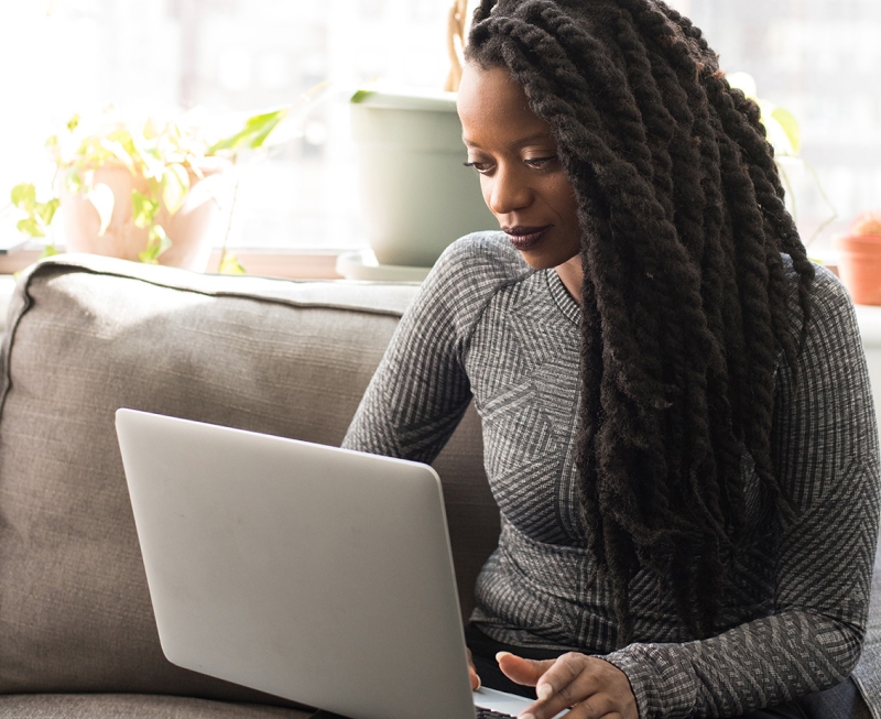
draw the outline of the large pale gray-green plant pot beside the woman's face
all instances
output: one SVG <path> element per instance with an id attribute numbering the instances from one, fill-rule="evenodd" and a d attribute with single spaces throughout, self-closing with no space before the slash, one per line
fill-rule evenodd
<path id="1" fill-rule="evenodd" d="M 467 160 L 454 92 L 366 91 L 351 104 L 368 240 L 380 264 L 432 266 L 453 240 L 498 229 Z"/>

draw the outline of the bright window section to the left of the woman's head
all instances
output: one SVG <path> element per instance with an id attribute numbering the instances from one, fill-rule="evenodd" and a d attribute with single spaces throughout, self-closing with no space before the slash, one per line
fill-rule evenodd
<path id="1" fill-rule="evenodd" d="M 348 97 L 376 77 L 439 89 L 448 69 L 448 0 L 0 2 L 2 204 L 18 182 L 50 192 L 43 142 L 83 109 L 253 112 L 329 81 L 302 138 L 240 167 L 230 242 L 244 249 L 366 247 Z"/>

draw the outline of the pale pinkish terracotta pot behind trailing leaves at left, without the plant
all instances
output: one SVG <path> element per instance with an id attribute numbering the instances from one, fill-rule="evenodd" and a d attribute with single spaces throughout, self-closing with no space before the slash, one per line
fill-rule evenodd
<path id="1" fill-rule="evenodd" d="M 217 159 L 211 159 L 217 160 Z M 159 255 L 160 264 L 204 272 L 211 253 L 211 237 L 208 232 L 220 213 L 217 198 L 231 184 L 231 173 L 226 161 L 211 162 L 202 167 L 205 176 L 199 179 L 191 173 L 191 189 L 184 204 L 171 215 L 162 204 L 157 220 L 172 241 L 172 246 Z M 134 225 L 131 192 L 146 193 L 148 183 L 141 175 L 132 173 L 122 164 L 108 164 L 95 170 L 95 184 L 104 183 L 113 192 L 113 214 L 110 225 L 100 237 L 98 210 L 85 194 L 62 189 L 61 218 L 64 226 L 68 252 L 105 254 L 138 262 L 146 249 L 146 228 Z"/>

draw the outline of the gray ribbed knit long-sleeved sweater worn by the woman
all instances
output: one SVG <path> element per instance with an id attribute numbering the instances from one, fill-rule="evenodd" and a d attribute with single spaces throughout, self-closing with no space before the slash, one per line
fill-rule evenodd
<path id="1" fill-rule="evenodd" d="M 791 299 L 798 333 L 797 297 Z M 872 400 L 852 307 L 818 270 L 798 391 L 781 364 L 773 459 L 795 509 L 773 541 L 751 462 L 748 531 L 718 635 L 689 641 L 670 591 L 631 582 L 634 643 L 618 649 L 606 577 L 586 548 L 576 489 L 579 306 L 504 235 L 454 243 L 425 281 L 344 446 L 431 462 L 474 399 L 501 512 L 472 617 L 511 644 L 575 649 L 629 677 L 642 719 L 738 716 L 836 684 L 862 641 L 879 515 Z"/>

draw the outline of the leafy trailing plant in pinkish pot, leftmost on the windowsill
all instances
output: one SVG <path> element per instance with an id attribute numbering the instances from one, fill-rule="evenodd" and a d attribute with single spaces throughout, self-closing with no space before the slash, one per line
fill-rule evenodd
<path id="1" fill-rule="evenodd" d="M 289 111 L 255 115 L 215 140 L 196 113 L 130 121 L 106 106 L 93 117 L 76 115 L 46 141 L 54 195 L 40 201 L 33 184 L 13 187 L 12 204 L 24 213 L 18 228 L 46 238 L 45 253 L 53 254 L 57 213 L 68 251 L 204 271 L 211 249 L 207 230 L 222 206 L 231 211 L 235 203 L 229 170 L 238 152 L 263 145 Z M 229 195 L 231 201 L 220 201 Z M 226 251 L 226 237 L 220 270 L 241 271 Z"/>

